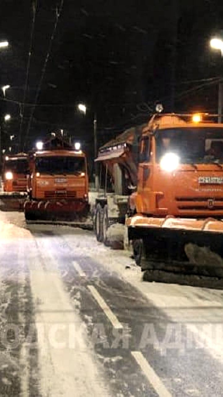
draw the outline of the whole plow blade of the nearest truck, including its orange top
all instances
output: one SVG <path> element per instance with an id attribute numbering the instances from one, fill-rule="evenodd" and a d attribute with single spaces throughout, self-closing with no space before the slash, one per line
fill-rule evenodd
<path id="1" fill-rule="evenodd" d="M 223 279 L 221 220 L 136 215 L 126 224 L 136 264 L 142 270 Z"/>

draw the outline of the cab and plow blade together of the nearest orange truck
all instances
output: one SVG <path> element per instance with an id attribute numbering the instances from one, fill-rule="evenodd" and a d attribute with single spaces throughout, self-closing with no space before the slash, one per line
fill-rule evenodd
<path id="1" fill-rule="evenodd" d="M 155 115 L 142 130 L 126 220 L 142 270 L 223 277 L 223 124 Z"/>

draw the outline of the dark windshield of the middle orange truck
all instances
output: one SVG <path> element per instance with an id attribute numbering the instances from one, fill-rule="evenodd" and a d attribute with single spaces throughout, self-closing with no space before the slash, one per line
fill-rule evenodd
<path id="1" fill-rule="evenodd" d="M 84 157 L 38 157 L 36 159 L 36 171 L 46 174 L 79 174 L 85 172 Z"/>

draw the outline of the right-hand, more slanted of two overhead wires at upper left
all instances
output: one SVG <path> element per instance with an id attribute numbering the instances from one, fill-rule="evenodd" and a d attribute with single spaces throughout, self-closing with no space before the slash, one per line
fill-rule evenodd
<path id="1" fill-rule="evenodd" d="M 31 115 L 30 115 L 30 118 L 29 118 L 28 126 L 27 126 L 27 132 L 26 132 L 26 136 L 25 136 L 25 141 L 24 141 L 24 144 L 23 144 L 23 150 L 25 150 L 25 144 L 26 144 L 27 138 L 29 136 L 29 130 L 30 130 L 31 123 L 32 123 L 32 120 L 33 120 L 33 115 L 34 115 L 34 112 L 35 112 L 35 108 L 36 108 L 36 105 L 37 105 L 38 96 L 39 96 L 40 91 L 41 91 L 42 81 L 44 79 L 44 75 L 45 75 L 45 72 L 46 72 L 46 66 L 47 66 L 48 60 L 50 58 L 50 52 L 51 52 L 51 49 L 52 49 L 52 44 L 53 44 L 53 41 L 54 41 L 54 37 L 55 37 L 57 25 L 58 25 L 58 20 L 60 18 L 61 12 L 63 10 L 63 1 L 64 0 L 61 0 L 60 7 L 59 7 L 59 9 L 56 10 L 56 20 L 55 20 L 55 23 L 54 23 L 54 29 L 53 29 L 52 35 L 50 37 L 50 43 L 49 43 L 49 46 L 48 46 L 46 58 L 45 58 L 44 65 L 43 65 L 43 68 L 42 68 L 40 81 L 39 81 L 39 84 L 38 84 L 38 87 L 37 87 L 37 92 L 36 92 L 36 96 L 35 96 L 34 105 L 33 105 L 33 108 L 31 110 Z"/>

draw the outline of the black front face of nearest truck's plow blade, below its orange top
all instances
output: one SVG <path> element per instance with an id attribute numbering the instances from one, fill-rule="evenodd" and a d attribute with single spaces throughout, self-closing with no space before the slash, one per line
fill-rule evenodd
<path id="1" fill-rule="evenodd" d="M 135 248 L 136 263 L 143 271 L 223 279 L 223 233 L 220 231 L 142 226 L 129 227 L 128 234 Z"/>

